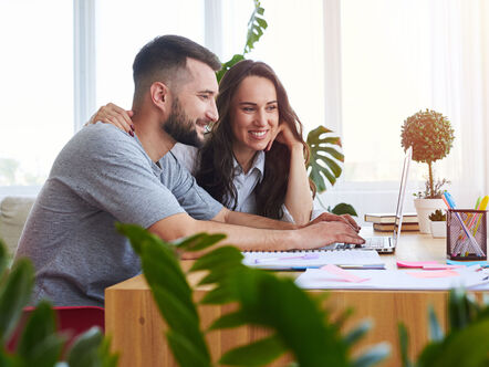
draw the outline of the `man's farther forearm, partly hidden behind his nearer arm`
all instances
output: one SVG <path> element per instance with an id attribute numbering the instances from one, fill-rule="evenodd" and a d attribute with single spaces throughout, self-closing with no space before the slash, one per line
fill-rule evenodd
<path id="1" fill-rule="evenodd" d="M 222 210 L 219 211 L 219 213 L 215 218 L 212 218 L 212 220 L 228 224 L 246 226 L 246 227 L 262 228 L 262 229 L 285 230 L 285 229 L 299 228 L 299 226 L 294 223 L 283 222 L 280 220 L 249 214 L 240 211 L 232 211 L 227 208 L 222 208 Z"/>

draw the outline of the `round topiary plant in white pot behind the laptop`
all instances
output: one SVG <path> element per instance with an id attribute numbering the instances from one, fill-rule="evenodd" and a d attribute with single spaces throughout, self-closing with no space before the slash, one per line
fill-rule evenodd
<path id="1" fill-rule="evenodd" d="M 446 157 L 454 143 L 454 129 L 447 117 L 438 112 L 419 111 L 404 122 L 400 132 L 404 150 L 413 147 L 413 160 L 428 165 L 428 178 L 425 191 L 419 191 L 415 199 L 416 212 L 419 219 L 419 231 L 429 233 L 428 214 L 436 209 L 445 208 L 441 200 L 441 187 L 448 184 L 446 179 L 435 180 L 433 164 Z"/>

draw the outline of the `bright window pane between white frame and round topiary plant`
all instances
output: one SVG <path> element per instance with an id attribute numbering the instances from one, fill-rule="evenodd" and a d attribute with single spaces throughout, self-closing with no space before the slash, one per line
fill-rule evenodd
<path id="1" fill-rule="evenodd" d="M 433 108 L 428 8 L 426 1 L 341 2 L 344 180 L 399 180 L 400 126 Z"/>

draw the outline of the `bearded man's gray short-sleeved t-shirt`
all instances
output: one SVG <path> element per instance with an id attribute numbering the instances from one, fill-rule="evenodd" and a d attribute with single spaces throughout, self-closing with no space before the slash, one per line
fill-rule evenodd
<path id="1" fill-rule="evenodd" d="M 32 302 L 103 306 L 104 290 L 141 272 L 114 223 L 148 228 L 187 211 L 209 220 L 222 206 L 171 153 L 158 167 L 137 138 L 108 124 L 83 128 L 58 156 L 25 223 L 15 258 L 35 268 Z"/>

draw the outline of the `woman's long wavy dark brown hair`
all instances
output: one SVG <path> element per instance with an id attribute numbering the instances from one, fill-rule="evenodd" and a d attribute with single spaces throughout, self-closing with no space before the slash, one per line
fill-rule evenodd
<path id="1" fill-rule="evenodd" d="M 206 144 L 199 153 L 199 165 L 196 174 L 197 182 L 216 200 L 229 209 L 237 207 L 237 190 L 232 182 L 235 178 L 231 130 L 231 102 L 241 82 L 248 76 L 266 77 L 273 83 L 279 104 L 279 122 L 289 124 L 295 137 L 304 146 L 308 161 L 309 147 L 302 138 L 302 124 L 289 104 L 285 88 L 273 70 L 263 62 L 243 60 L 232 66 L 219 84 L 217 108 L 219 120 L 211 126 Z M 285 199 L 290 169 L 289 149 L 274 141 L 270 151 L 266 153 L 264 176 L 254 188 L 257 214 L 281 219 L 282 205 Z M 314 189 L 310 180 L 311 188 Z"/>

